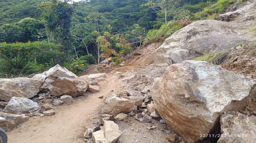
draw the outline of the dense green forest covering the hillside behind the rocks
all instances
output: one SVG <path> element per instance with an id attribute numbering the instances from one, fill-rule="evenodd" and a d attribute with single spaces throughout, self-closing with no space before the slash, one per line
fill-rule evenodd
<path id="1" fill-rule="evenodd" d="M 0 77 L 60 64 L 80 74 L 137 47 L 161 42 L 194 20 L 214 19 L 234 0 L 0 0 Z"/>

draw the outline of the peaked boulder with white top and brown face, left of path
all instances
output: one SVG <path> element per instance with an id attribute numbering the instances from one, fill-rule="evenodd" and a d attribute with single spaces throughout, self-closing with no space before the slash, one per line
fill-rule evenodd
<path id="1" fill-rule="evenodd" d="M 56 65 L 48 71 L 35 75 L 33 78 L 45 79 L 40 90 L 45 89 L 53 96 L 70 95 L 76 97 L 83 95 L 88 89 L 88 83 L 78 78 L 68 69 Z"/>

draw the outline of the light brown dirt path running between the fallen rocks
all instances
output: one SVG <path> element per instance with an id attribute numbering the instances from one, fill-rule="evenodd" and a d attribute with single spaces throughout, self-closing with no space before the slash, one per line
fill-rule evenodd
<path id="1" fill-rule="evenodd" d="M 98 83 L 100 92 L 75 98 L 75 104 L 59 106 L 55 115 L 32 117 L 21 127 L 8 132 L 10 143 L 82 143 L 89 124 L 95 124 L 104 98 L 112 90 L 118 92 L 124 85 L 114 75 L 107 75 Z"/>

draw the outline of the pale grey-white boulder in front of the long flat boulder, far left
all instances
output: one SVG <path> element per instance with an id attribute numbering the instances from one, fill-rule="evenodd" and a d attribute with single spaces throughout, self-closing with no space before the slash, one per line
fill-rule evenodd
<path id="1" fill-rule="evenodd" d="M 3 109 L 3 112 L 11 114 L 32 114 L 36 113 L 38 109 L 38 104 L 30 99 L 25 97 L 12 97 L 7 106 Z"/>

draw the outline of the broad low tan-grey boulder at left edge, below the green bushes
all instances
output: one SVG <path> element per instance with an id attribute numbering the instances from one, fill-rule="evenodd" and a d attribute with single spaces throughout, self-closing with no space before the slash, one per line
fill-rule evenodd
<path id="1" fill-rule="evenodd" d="M 0 79 L 0 100 L 9 101 L 14 96 L 32 98 L 43 82 L 31 78 Z"/>

